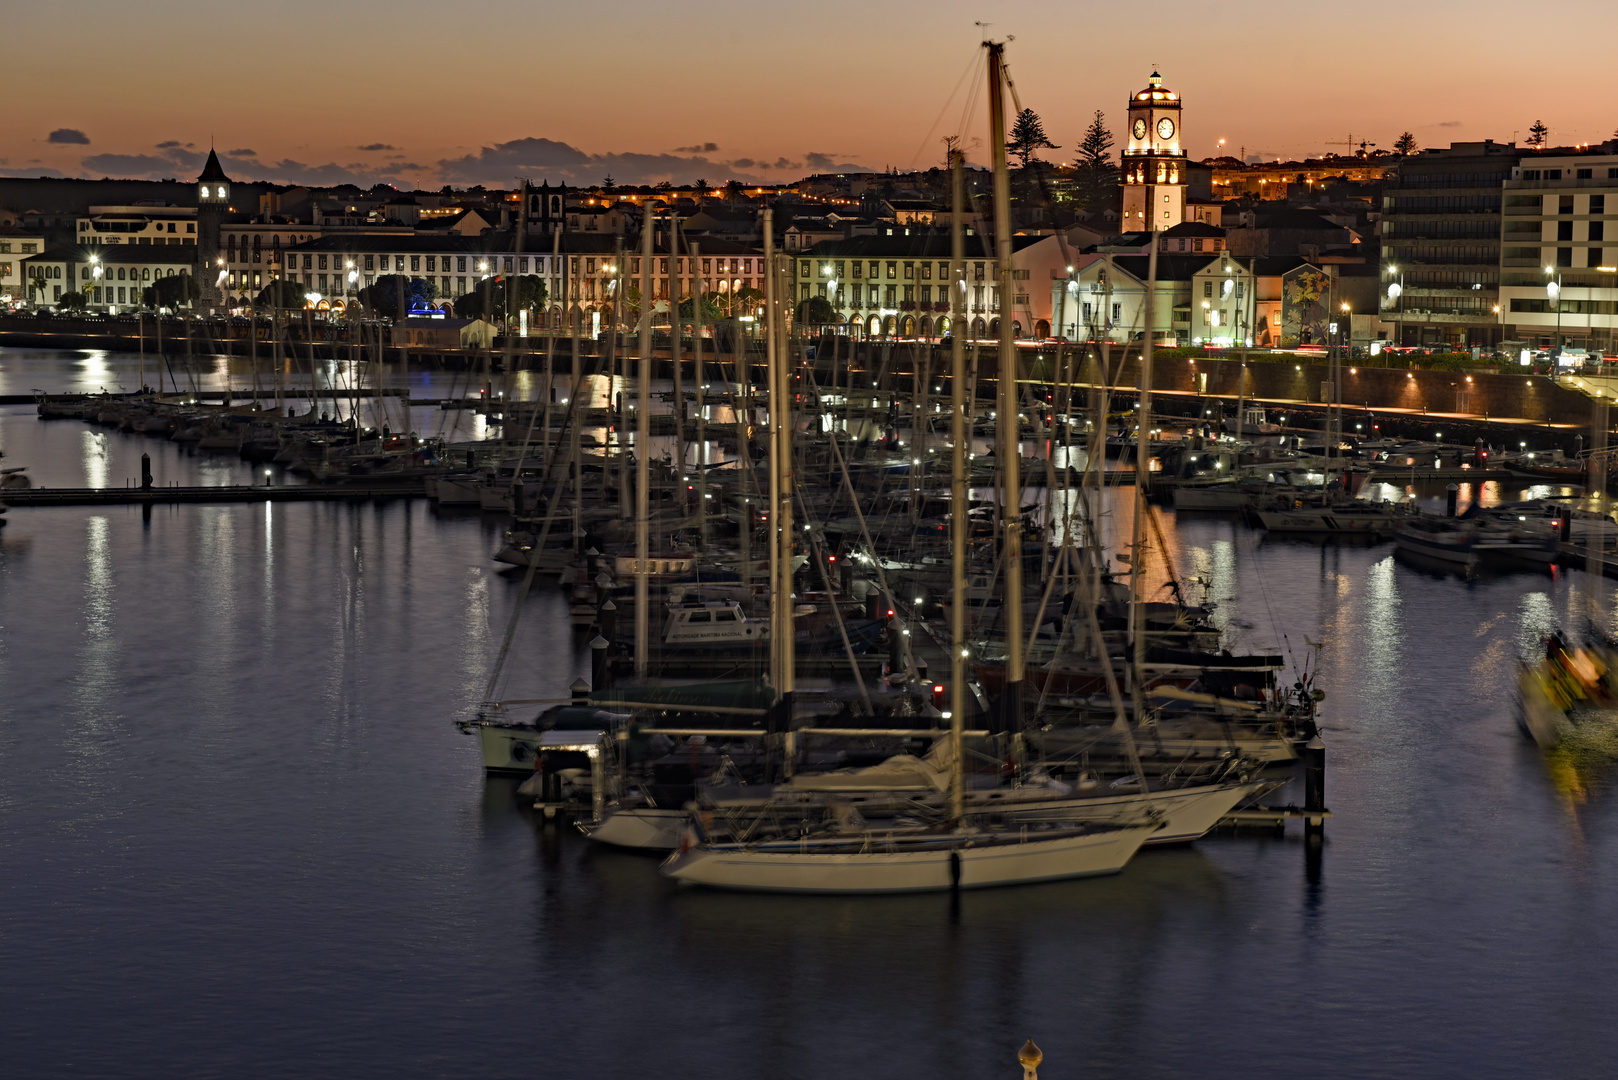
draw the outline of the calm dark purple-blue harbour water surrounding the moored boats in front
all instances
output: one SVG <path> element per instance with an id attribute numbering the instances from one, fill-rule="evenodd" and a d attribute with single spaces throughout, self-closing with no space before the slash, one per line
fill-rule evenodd
<path id="1" fill-rule="evenodd" d="M 0 410 L 8 465 L 87 470 L 87 432 Z M 678 891 L 519 810 L 450 725 L 516 594 L 495 521 L 8 517 L 6 1075 L 984 1078 L 1027 1036 L 1047 1078 L 1612 1075 L 1618 803 L 1510 712 L 1582 575 L 1165 515 L 1244 643 L 1325 643 L 1319 873 L 1296 832 L 1214 837 L 953 907 Z M 508 696 L 587 669 L 561 610 L 534 604 Z"/>

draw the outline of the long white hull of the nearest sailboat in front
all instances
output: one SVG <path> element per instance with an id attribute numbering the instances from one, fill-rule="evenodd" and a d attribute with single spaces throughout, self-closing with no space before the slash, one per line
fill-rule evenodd
<path id="1" fill-rule="evenodd" d="M 696 845 L 668 857 L 662 873 L 675 881 L 748 892 L 943 892 L 989 889 L 1066 878 L 1115 874 L 1141 850 L 1155 824 L 1018 836 L 938 837 L 925 847 L 870 842 L 837 850 L 807 842 L 743 847 Z M 854 847 L 849 840 L 845 847 Z M 958 884 L 956 884 L 958 882 Z"/>

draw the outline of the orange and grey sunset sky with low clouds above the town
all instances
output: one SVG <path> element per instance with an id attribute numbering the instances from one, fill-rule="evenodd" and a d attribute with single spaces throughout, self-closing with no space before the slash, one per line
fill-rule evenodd
<path id="1" fill-rule="evenodd" d="M 927 167 L 982 79 L 985 16 L 1014 39 L 1021 104 L 1061 146 L 1050 160 L 1071 157 L 1095 108 L 1120 133 L 1154 65 L 1186 102 L 1196 157 L 1222 138 L 1302 157 L 1349 134 L 1521 142 L 1544 120 L 1569 144 L 1618 128 L 1613 0 L 1563 0 L 1548 37 L 1505 0 L 1089 6 L 16 5 L 5 66 L 26 107 L 0 113 L 0 175 L 189 178 L 210 141 L 241 180 L 430 188 Z M 982 160 L 977 102 L 966 141 Z"/>

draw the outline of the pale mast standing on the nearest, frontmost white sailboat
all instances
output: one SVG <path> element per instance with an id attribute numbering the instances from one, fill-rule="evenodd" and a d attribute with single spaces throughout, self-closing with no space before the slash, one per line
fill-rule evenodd
<path id="1" fill-rule="evenodd" d="M 950 152 L 950 819 L 964 808 L 966 751 L 966 236 L 961 152 Z M 833 434 L 833 439 L 837 436 Z"/>

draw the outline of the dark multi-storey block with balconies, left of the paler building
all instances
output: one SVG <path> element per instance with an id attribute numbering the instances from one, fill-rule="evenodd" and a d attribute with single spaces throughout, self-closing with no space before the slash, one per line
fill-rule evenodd
<path id="1" fill-rule="evenodd" d="M 1406 157 L 1382 196 L 1382 317 L 1404 345 L 1502 340 L 1500 198 L 1523 151 L 1455 142 Z"/>

